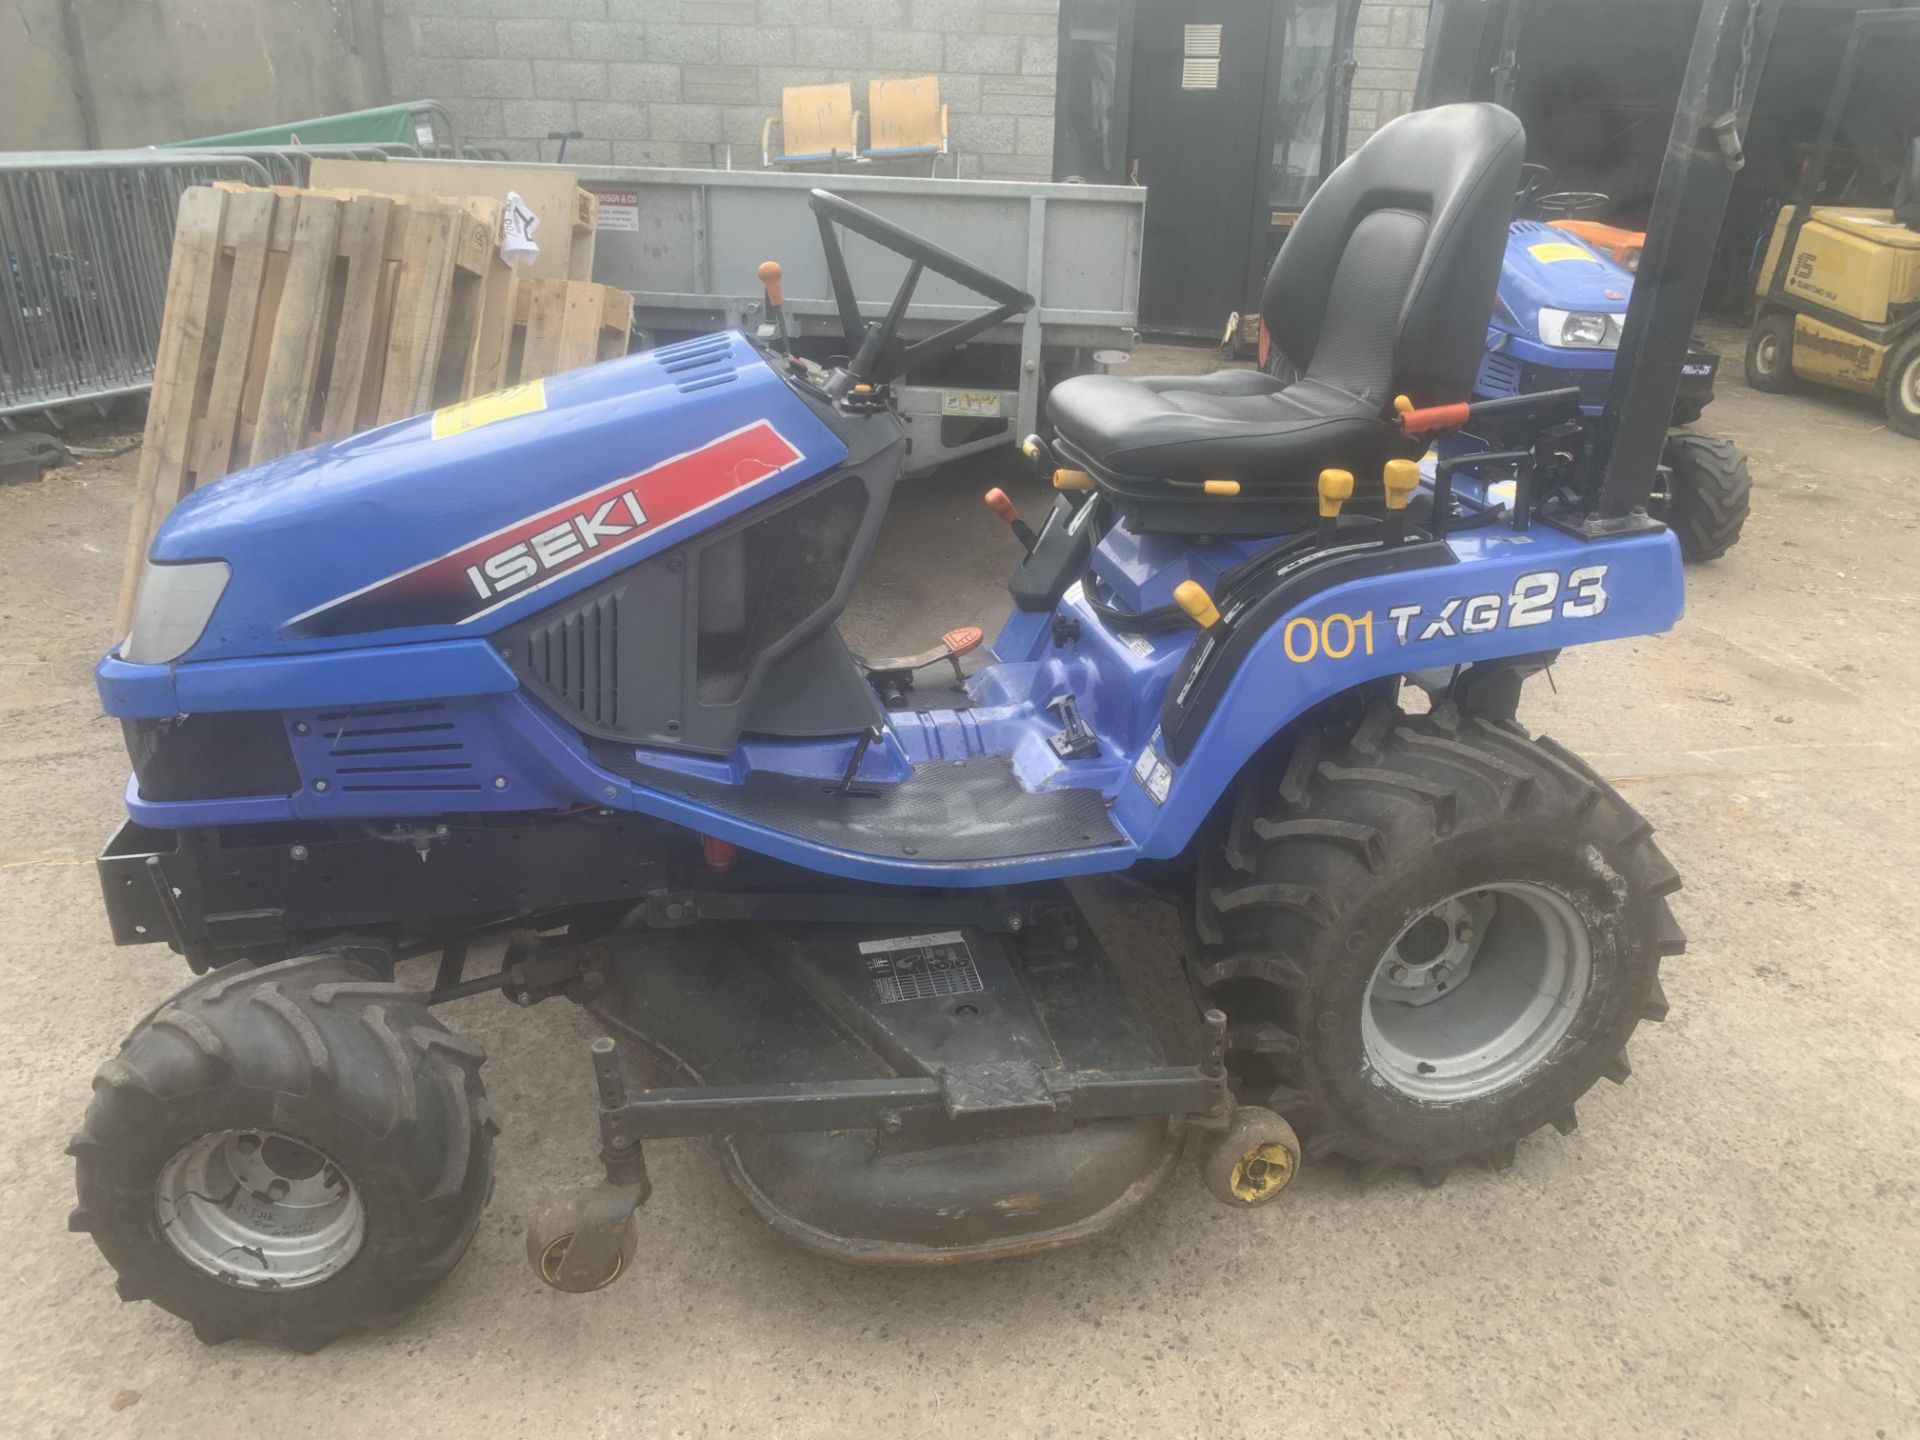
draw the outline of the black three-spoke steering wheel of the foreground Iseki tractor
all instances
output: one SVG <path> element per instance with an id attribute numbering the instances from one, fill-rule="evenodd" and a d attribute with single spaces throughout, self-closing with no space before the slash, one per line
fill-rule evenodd
<path id="1" fill-rule="evenodd" d="M 970 265 L 950 250 L 941 250 L 931 240 L 924 240 L 862 205 L 841 200 L 829 190 L 814 190 L 810 204 L 814 219 L 820 225 L 820 248 L 826 252 L 828 278 L 833 284 L 833 307 L 839 311 L 847 344 L 854 348 L 854 355 L 847 361 L 847 367 L 828 378 L 828 392 L 833 396 L 847 394 L 856 384 L 877 386 L 906 374 L 918 365 L 950 355 L 968 340 L 1002 321 L 1033 309 L 1033 296 L 1020 286 L 987 275 L 987 271 Z M 835 225 L 845 225 L 854 234 L 862 234 L 883 250 L 891 250 L 910 261 L 906 278 L 900 280 L 893 303 L 887 305 L 887 317 L 879 324 L 868 324 L 860 319 L 860 301 L 854 298 L 852 278 L 847 275 L 847 255 L 841 252 L 839 236 L 833 232 Z M 912 346 L 897 346 L 893 338 L 900 328 L 900 319 L 906 315 L 906 305 L 914 298 L 914 286 L 920 284 L 922 271 L 933 271 L 977 296 L 985 296 L 995 301 L 993 309 L 970 315 Z"/>

